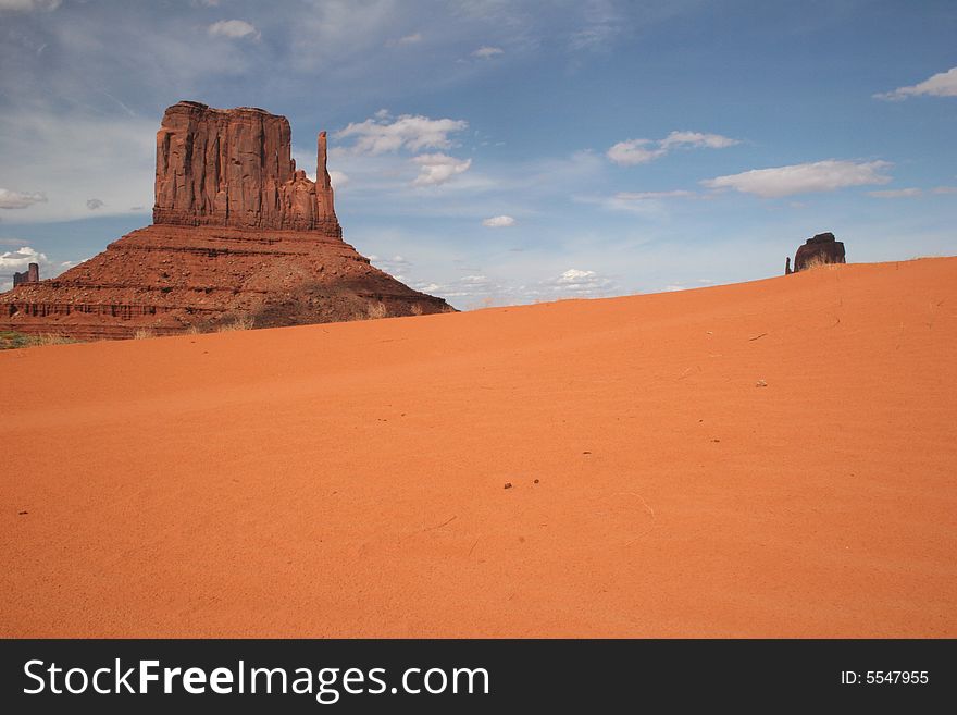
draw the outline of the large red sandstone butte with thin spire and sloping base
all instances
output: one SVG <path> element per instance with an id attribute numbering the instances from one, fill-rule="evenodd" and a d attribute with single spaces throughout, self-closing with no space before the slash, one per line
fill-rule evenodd
<path id="1" fill-rule="evenodd" d="M 57 279 L 0 294 L 0 330 L 80 340 L 448 312 L 341 238 L 318 138 L 316 181 L 289 122 L 261 109 L 170 107 L 157 133 L 153 224 Z"/>

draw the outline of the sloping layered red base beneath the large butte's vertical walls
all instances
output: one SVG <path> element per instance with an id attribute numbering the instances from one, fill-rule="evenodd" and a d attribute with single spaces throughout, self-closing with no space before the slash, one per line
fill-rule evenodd
<path id="1" fill-rule="evenodd" d="M 102 340 L 450 310 L 319 232 L 152 225 L 0 295 L 0 330 Z"/>

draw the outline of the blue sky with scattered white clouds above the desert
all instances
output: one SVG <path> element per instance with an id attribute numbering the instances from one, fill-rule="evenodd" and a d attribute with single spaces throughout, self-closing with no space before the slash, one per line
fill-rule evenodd
<path id="1" fill-rule="evenodd" d="M 957 4 L 0 0 L 0 288 L 147 225 L 181 99 L 315 134 L 345 238 L 463 309 L 957 254 Z"/>

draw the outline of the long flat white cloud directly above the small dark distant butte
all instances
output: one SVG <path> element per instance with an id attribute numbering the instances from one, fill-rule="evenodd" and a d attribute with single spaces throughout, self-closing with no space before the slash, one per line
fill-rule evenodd
<path id="1" fill-rule="evenodd" d="M 739 174 L 708 178 L 701 184 L 708 188 L 733 188 L 763 198 L 780 198 L 794 194 L 833 192 L 847 186 L 886 184 L 891 177 L 881 172 L 888 167 L 891 163 L 887 161 L 828 159 L 790 167 L 753 169 Z"/>

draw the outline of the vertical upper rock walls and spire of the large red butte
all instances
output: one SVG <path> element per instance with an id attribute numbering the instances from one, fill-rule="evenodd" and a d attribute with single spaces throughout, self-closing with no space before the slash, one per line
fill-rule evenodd
<path id="1" fill-rule="evenodd" d="M 285 116 L 179 102 L 157 133 L 153 223 L 341 235 L 319 135 L 316 182 L 296 169 Z"/>

